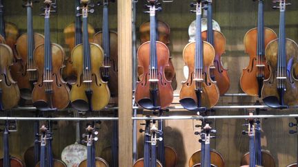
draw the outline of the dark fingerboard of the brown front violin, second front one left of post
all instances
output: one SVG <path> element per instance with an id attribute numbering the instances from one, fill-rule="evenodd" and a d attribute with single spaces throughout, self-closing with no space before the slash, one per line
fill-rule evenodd
<path id="1" fill-rule="evenodd" d="M 45 71 L 52 70 L 52 48 L 50 42 L 50 17 L 45 17 L 45 30 L 44 30 L 44 54 L 45 54 Z"/>

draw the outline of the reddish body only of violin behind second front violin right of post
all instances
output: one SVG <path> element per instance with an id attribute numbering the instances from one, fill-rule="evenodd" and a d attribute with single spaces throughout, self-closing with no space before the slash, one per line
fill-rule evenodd
<path id="1" fill-rule="evenodd" d="M 221 55 L 226 52 L 226 37 L 219 31 L 213 30 L 213 33 L 215 49 L 215 58 L 213 63 L 215 69 L 210 68 L 210 74 L 211 76 L 215 76 L 219 93 L 222 96 L 230 88 L 230 78 L 228 77 L 228 69 L 224 68 L 221 63 Z M 203 41 L 207 41 L 207 31 L 202 32 L 201 35 Z"/>

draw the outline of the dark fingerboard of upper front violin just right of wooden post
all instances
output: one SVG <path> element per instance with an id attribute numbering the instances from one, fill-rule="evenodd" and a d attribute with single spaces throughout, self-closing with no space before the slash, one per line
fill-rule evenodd
<path id="1" fill-rule="evenodd" d="M 156 23 L 155 6 L 152 5 L 150 8 L 150 69 L 157 68 Z"/>

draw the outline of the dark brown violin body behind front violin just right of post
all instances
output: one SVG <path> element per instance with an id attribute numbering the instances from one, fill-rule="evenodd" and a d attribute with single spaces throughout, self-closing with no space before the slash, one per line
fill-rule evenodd
<path id="1" fill-rule="evenodd" d="M 143 24 L 141 24 L 139 28 L 139 32 L 141 34 L 141 44 L 146 43 L 147 41 L 150 41 L 150 21 L 147 21 Z M 163 22 L 163 21 L 157 21 L 157 41 L 160 41 L 161 43 L 164 43 L 168 45 L 170 43 L 170 26 Z M 169 59 L 169 66 L 165 68 L 165 76 L 167 80 L 172 80 L 175 78 L 175 69 L 172 64 L 172 58 Z M 138 74 L 141 76 L 143 74 L 143 71 L 141 68 L 138 68 Z M 175 82 L 175 80 L 174 80 Z M 175 84 L 177 87 L 177 83 Z M 172 87 L 173 87 L 172 83 Z"/>

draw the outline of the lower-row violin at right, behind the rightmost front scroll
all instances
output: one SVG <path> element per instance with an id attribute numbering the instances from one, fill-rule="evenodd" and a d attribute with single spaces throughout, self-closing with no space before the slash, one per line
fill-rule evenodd
<path id="1" fill-rule="evenodd" d="M 261 122 L 255 122 L 255 159 L 257 166 L 275 167 L 275 159 L 269 151 L 261 149 Z M 250 153 L 246 153 L 241 159 L 241 166 L 250 164 Z"/>

